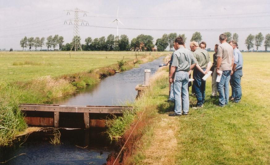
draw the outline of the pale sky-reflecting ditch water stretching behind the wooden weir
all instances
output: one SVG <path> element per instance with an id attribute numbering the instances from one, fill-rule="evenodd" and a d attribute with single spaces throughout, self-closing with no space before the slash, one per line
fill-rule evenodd
<path id="1" fill-rule="evenodd" d="M 104 78 L 99 84 L 79 89 L 73 95 L 56 100 L 53 104 L 86 106 L 122 105 L 127 101 L 133 102 L 137 95 L 136 85 L 144 81 L 144 70 L 151 69 L 151 74 L 154 74 L 158 65 L 163 63 L 163 58 L 160 57 L 152 62 L 141 64 L 138 68 Z"/>

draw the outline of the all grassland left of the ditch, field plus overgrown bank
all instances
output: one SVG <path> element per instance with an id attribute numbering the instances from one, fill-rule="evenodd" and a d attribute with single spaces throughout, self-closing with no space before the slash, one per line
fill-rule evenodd
<path id="1" fill-rule="evenodd" d="M 45 103 L 98 83 L 116 70 L 127 70 L 167 54 L 149 56 L 143 52 L 135 59 L 135 52 L 116 53 L 81 52 L 70 58 L 69 52 L 1 52 L 0 125 L 5 128 L 0 129 L 0 146 L 11 145 L 15 135 L 27 127 L 19 103 Z M 121 60 L 126 63 L 119 67 Z"/>

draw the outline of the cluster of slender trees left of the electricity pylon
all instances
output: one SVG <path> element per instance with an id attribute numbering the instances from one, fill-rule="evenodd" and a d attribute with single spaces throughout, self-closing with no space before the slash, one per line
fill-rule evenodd
<path id="1" fill-rule="evenodd" d="M 29 37 L 27 38 L 26 36 L 24 38 L 21 39 L 20 41 L 20 45 L 23 48 L 27 48 L 27 46 L 29 46 L 29 50 L 31 51 L 32 47 L 34 46 L 35 48 L 40 47 L 40 50 L 42 50 L 42 46 L 46 45 L 48 50 L 49 48 L 53 47 L 53 50 L 55 49 L 55 47 L 58 45 L 59 49 L 62 49 L 64 43 L 64 37 L 62 36 L 58 36 L 54 35 L 54 37 L 52 35 L 50 35 L 49 37 L 47 37 L 47 42 L 45 42 L 45 38 L 44 37 Z"/>

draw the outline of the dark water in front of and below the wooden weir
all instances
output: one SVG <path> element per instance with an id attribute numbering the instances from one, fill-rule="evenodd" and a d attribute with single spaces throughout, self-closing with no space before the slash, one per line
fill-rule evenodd
<path id="1" fill-rule="evenodd" d="M 61 145 L 49 143 L 53 131 L 35 132 L 21 146 L 22 142 L 11 148 L 1 148 L 0 162 L 24 153 L 26 155 L 20 155 L 5 164 L 103 164 L 109 154 L 117 151 L 116 145 L 100 130 L 60 129 L 60 132 Z"/>

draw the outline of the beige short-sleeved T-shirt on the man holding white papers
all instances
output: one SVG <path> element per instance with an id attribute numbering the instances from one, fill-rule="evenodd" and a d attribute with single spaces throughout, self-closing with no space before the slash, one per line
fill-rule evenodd
<path id="1" fill-rule="evenodd" d="M 232 59 L 234 58 L 234 49 L 227 42 L 219 44 L 217 47 L 217 57 L 221 57 L 219 70 L 232 70 Z"/>

